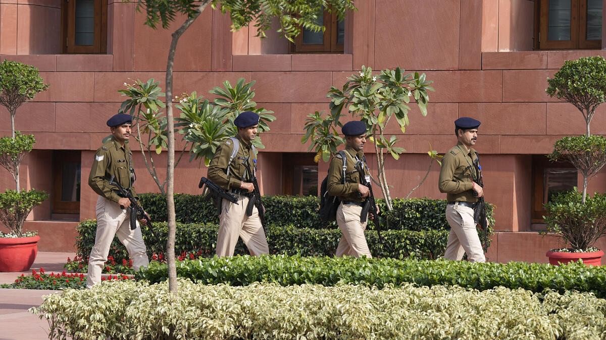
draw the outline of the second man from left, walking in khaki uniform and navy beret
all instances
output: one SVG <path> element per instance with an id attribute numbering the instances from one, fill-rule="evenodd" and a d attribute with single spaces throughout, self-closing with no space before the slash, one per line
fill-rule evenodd
<path id="1" fill-rule="evenodd" d="M 208 179 L 238 197 L 238 204 L 225 199 L 221 202 L 216 254 L 219 257 L 233 256 L 238 237 L 242 238 L 251 255 L 267 254 L 269 247 L 259 211 L 255 207 L 250 216 L 246 215 L 248 194 L 254 190 L 251 176 L 255 174 L 248 174 L 245 162 L 248 162 L 251 171 L 256 172 L 257 155 L 252 140 L 257 134 L 259 115 L 245 111 L 233 123 L 238 127 L 236 138 L 239 142 L 234 159 L 230 164 L 234 143 L 227 139 L 219 146 L 208 166 Z"/>

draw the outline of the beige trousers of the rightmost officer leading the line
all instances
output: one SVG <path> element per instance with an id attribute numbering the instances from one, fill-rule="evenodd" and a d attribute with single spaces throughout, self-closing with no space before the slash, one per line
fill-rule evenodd
<path id="1" fill-rule="evenodd" d="M 450 234 L 444 257 L 448 260 L 461 260 L 467 253 L 470 262 L 486 262 L 482 243 L 478 237 L 473 209 L 459 204 L 446 206 L 446 220 L 450 224 Z"/>

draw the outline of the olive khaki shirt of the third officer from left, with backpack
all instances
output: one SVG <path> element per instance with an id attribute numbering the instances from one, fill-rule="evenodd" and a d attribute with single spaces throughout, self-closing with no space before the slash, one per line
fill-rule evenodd
<path id="1" fill-rule="evenodd" d="M 345 170 L 345 184 L 343 184 L 342 173 L 343 173 L 343 159 L 341 155 L 337 154 L 330 162 L 328 167 L 328 180 L 327 180 L 327 191 L 328 195 L 338 196 L 342 201 L 355 201 L 362 202 L 365 198 L 359 197 L 358 184 L 361 183 L 360 176 L 366 175 L 366 169 L 364 174 L 360 174 L 356 170 L 356 155 L 359 160 L 364 160 L 364 152 L 356 152 L 353 148 L 345 149 L 345 155 L 347 157 L 347 170 Z"/>

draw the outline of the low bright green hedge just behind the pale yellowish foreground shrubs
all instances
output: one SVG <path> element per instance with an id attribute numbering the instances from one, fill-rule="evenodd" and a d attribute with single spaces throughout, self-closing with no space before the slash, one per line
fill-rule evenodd
<path id="1" fill-rule="evenodd" d="M 152 263 L 135 273 L 137 280 L 158 283 L 167 280 L 167 265 Z M 544 292 L 578 290 L 606 298 L 606 269 L 581 263 L 551 266 L 541 263 L 470 263 L 467 261 L 398 260 L 354 257 L 261 257 L 200 258 L 179 261 L 178 276 L 203 284 L 246 286 L 254 282 L 292 284 L 363 284 L 382 288 L 414 283 L 418 286 L 461 286 L 487 290 L 494 287 Z"/>

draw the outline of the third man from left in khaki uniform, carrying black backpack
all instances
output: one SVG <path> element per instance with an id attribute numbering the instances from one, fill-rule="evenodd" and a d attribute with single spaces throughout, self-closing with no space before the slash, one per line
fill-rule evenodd
<path id="1" fill-rule="evenodd" d="M 364 162 L 364 144 L 366 143 L 366 124 L 364 122 L 348 122 L 343 125 L 341 132 L 345 135 L 345 184 L 343 184 L 343 159 L 340 154 L 333 157 L 328 168 L 327 192 L 328 195 L 341 198 L 337 209 L 336 220 L 341 229 L 342 237 L 336 250 L 336 256 L 350 255 L 355 257 L 371 258 L 364 230 L 367 221 L 362 223 L 361 214 L 364 201 L 370 195 L 367 186 L 362 185 L 361 176 L 370 176 L 366 165 L 362 166 L 364 174 L 360 174 L 355 165 Z M 366 218 L 368 220 L 368 218 Z"/>

